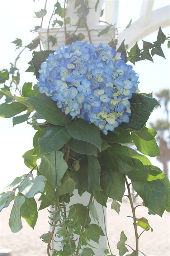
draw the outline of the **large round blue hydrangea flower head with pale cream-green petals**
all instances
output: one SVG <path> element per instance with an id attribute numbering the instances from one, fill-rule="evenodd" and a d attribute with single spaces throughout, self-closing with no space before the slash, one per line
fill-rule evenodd
<path id="1" fill-rule="evenodd" d="M 40 93 L 51 96 L 72 119 L 94 123 L 104 134 L 129 122 L 129 99 L 138 92 L 139 76 L 108 44 L 61 45 L 41 64 L 39 73 Z"/>

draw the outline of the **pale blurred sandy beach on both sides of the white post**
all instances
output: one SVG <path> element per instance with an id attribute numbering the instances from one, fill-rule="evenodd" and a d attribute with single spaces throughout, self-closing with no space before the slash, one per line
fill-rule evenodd
<path id="1" fill-rule="evenodd" d="M 140 203 L 137 198 L 135 203 Z M 132 219 L 128 218 L 131 214 L 131 208 L 127 198 L 123 199 L 121 204 L 120 215 L 114 210 L 110 209 L 112 201 L 108 202 L 107 209 L 107 230 L 109 242 L 112 247 L 112 253 L 119 255 L 116 244 L 120 240 L 121 231 L 124 230 L 128 240 L 127 243 L 134 247 L 134 230 Z M 37 201 L 38 207 L 39 202 Z M 12 203 L 8 208 L 5 208 L 0 213 L 0 248 L 11 248 L 13 256 L 46 256 L 47 244 L 43 243 L 39 236 L 47 233 L 49 229 L 47 209 L 38 212 L 38 221 L 34 228 L 28 226 L 23 219 L 23 229 L 19 233 L 11 233 L 8 226 L 8 219 Z M 140 237 L 140 250 L 147 256 L 169 256 L 170 255 L 170 219 L 169 213 L 165 212 L 162 218 L 157 215 L 148 215 L 145 207 L 138 207 L 136 209 L 136 216 L 146 217 L 150 226 L 154 229 L 144 232 Z M 142 228 L 138 227 L 139 233 Z M 129 250 L 130 251 L 130 250 Z M 127 254 L 131 254 L 130 251 Z M 140 253 L 142 255 L 142 253 Z"/>

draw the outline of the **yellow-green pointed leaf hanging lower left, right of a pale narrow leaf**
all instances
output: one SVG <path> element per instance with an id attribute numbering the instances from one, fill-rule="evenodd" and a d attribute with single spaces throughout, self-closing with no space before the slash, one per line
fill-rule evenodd
<path id="1" fill-rule="evenodd" d="M 34 229 L 38 218 L 36 200 L 25 197 L 25 202 L 20 208 L 20 214 L 27 221 L 28 225 Z"/>

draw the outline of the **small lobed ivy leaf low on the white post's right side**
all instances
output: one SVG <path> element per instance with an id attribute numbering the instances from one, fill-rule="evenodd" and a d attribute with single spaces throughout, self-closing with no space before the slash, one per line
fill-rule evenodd
<path id="1" fill-rule="evenodd" d="M 90 241 L 90 240 L 93 240 L 94 242 L 98 243 L 99 244 L 99 238 L 100 238 L 100 235 L 104 236 L 104 233 L 101 229 L 101 227 L 99 227 L 98 225 L 96 224 L 90 224 L 86 230 L 88 230 L 88 234 L 87 234 L 87 239 Z"/>

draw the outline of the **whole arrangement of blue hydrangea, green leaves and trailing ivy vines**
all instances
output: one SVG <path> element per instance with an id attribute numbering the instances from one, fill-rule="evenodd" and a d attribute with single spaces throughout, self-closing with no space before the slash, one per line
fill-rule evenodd
<path id="1" fill-rule="evenodd" d="M 98 3 L 99 0 L 95 9 Z M 97 244 L 100 236 L 107 237 L 106 228 L 100 227 L 94 201 L 107 207 L 107 199 L 112 198 L 112 209 L 119 213 L 118 202 L 127 196 L 132 208 L 129 217 L 133 218 L 136 248 L 126 244 L 123 231 L 117 248 L 120 256 L 128 249 L 132 251 L 128 255 L 138 256 L 140 236 L 153 229 L 145 217 L 136 216 L 136 207 L 147 207 L 148 214 L 153 215 L 162 216 L 165 210 L 170 212 L 170 187 L 167 176 L 145 156 L 160 156 L 156 131 L 146 127 L 159 103 L 152 94 L 139 93 L 138 75 L 126 62 L 153 61 L 155 54 L 165 57 L 161 44 L 169 38 L 160 28 L 157 40 L 143 41 L 143 49 L 136 42 L 127 51 L 124 41 L 117 47 L 117 39 L 111 39 L 109 45 L 95 47 L 87 25 L 88 1 L 76 0 L 75 8 L 78 8 L 78 21 L 76 31 L 71 34 L 66 27 L 71 22 L 65 15 L 66 1 L 63 7 L 58 1 L 54 6 L 49 25 L 53 15 L 57 15 L 52 26 L 65 27 L 67 46 L 61 46 L 55 53 L 33 51 L 27 72 L 34 73 L 37 85 L 25 82 L 21 89 L 16 64 L 24 49 L 41 46 L 39 38 L 27 46 L 23 46 L 20 39 L 13 41 L 16 48 L 22 50 L 10 70 L 0 71 L 0 83 L 4 84 L 0 96 L 5 97 L 0 116 L 13 117 L 13 126 L 27 121 L 36 132 L 33 149 L 23 154 L 30 170 L 3 190 L 0 210 L 13 201 L 11 231 L 22 229 L 21 217 L 34 229 L 38 217 L 34 196 L 41 193 L 38 210 L 51 206 L 47 209 L 51 231 L 41 236 L 47 243 L 47 255 L 90 256 L 94 255 L 90 242 Z M 42 27 L 46 13 L 46 5 L 35 13 L 42 21 L 34 32 Z M 130 23 L 127 28 L 129 26 Z M 81 33 L 76 35 L 80 27 L 86 27 L 90 44 L 80 42 L 84 39 Z M 108 24 L 98 36 L 111 27 L 112 24 Z M 50 42 L 55 45 L 57 36 L 50 36 L 48 27 L 48 47 Z M 132 143 L 137 151 L 129 147 Z M 143 199 L 142 205 L 133 206 L 131 186 Z M 126 187 L 128 194 L 124 195 Z M 80 196 L 88 192 L 87 206 L 80 203 L 67 206 L 75 189 Z M 137 226 L 143 229 L 140 234 Z M 51 247 L 52 240 L 60 244 L 58 250 Z M 103 255 L 113 256 L 109 241 Z"/>

